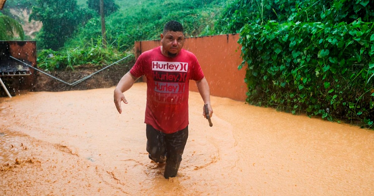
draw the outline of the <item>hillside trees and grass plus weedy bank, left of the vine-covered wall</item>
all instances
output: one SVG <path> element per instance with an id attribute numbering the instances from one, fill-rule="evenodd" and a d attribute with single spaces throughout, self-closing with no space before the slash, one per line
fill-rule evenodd
<path id="1" fill-rule="evenodd" d="M 6 6 L 33 8 L 31 19 L 43 22 L 36 37 L 38 65 L 46 70 L 79 66 L 76 63 L 100 62 L 106 65 L 113 56 L 132 53 L 136 40 L 159 39 L 163 25 L 175 19 L 184 25 L 186 36 L 210 35 L 220 11 L 232 0 L 108 0 L 106 10 L 106 37 L 108 49 L 102 48 L 101 18 L 98 0 L 8 0 Z M 17 19 L 15 16 L 10 17 Z M 78 49 L 77 49 L 78 48 Z M 85 50 L 106 51 L 89 53 L 92 60 L 81 55 Z M 53 57 L 48 57 L 52 54 Z M 101 54 L 101 55 L 99 55 Z M 110 54 L 110 55 L 109 55 Z M 98 55 L 98 56 L 96 56 Z M 50 56 L 50 55 L 49 55 Z M 107 59 L 102 59 L 102 57 Z M 98 60 L 101 59 L 101 60 Z"/>

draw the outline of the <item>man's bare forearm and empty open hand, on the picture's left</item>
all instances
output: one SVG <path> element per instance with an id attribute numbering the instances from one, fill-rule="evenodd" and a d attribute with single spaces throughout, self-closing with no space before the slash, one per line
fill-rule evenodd
<path id="1" fill-rule="evenodd" d="M 122 113 L 121 101 L 126 104 L 128 103 L 123 92 L 129 90 L 136 80 L 138 80 L 138 78 L 135 78 L 130 72 L 127 72 L 114 89 L 114 104 L 119 113 Z"/>

